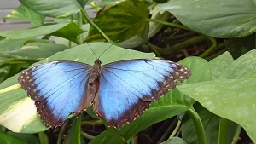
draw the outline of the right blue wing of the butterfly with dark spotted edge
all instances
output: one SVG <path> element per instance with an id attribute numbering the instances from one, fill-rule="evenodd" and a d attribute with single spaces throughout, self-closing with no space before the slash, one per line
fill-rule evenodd
<path id="1" fill-rule="evenodd" d="M 124 60 L 102 66 L 94 110 L 108 125 L 121 128 L 189 78 L 185 66 L 167 60 Z"/>

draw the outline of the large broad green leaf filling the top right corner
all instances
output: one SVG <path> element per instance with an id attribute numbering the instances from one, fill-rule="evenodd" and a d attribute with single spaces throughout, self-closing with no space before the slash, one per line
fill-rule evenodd
<path id="1" fill-rule="evenodd" d="M 244 37 L 256 31 L 255 0 L 172 0 L 158 5 L 184 26 L 212 37 Z M 212 28 L 214 27 L 214 28 Z"/>

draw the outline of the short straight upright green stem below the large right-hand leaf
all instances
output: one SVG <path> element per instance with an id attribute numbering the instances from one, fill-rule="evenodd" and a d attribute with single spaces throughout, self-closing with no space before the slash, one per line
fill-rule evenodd
<path id="1" fill-rule="evenodd" d="M 230 121 L 226 118 L 220 118 L 219 131 L 218 131 L 218 144 L 228 143 Z"/>

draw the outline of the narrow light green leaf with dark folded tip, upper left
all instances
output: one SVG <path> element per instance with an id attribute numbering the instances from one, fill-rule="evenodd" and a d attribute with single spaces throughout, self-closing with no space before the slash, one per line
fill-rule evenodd
<path id="1" fill-rule="evenodd" d="M 64 37 L 73 41 L 73 39 L 75 39 L 79 34 L 83 32 L 84 30 L 80 29 L 79 26 L 72 22 L 39 26 L 25 30 L 4 31 L 0 32 L 0 36 L 12 39 L 20 39 L 52 34 L 54 36 Z"/>

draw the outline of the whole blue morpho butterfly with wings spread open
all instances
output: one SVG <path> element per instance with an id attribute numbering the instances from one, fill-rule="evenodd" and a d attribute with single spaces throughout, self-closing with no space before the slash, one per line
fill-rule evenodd
<path id="1" fill-rule="evenodd" d="M 57 127 L 91 104 L 108 126 L 120 129 L 148 109 L 152 101 L 189 78 L 187 67 L 168 60 L 121 60 L 101 66 L 53 61 L 20 73 L 21 86 L 35 101 L 44 124 Z"/>

